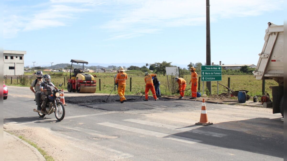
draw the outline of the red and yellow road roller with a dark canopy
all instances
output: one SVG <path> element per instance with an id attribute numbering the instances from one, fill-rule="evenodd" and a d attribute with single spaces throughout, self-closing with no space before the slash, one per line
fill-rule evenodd
<path id="1" fill-rule="evenodd" d="M 72 59 L 71 62 L 70 79 L 68 79 L 67 83 L 68 92 L 95 93 L 97 86 L 96 80 L 93 75 L 86 74 L 84 70 L 84 64 L 88 64 L 88 62 L 75 59 Z M 72 70 L 73 63 L 82 63 L 83 68 L 74 68 L 74 70 Z"/>

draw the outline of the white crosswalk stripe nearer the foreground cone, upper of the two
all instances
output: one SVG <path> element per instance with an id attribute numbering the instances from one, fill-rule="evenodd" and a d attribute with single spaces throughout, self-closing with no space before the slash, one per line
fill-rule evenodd
<path id="1" fill-rule="evenodd" d="M 203 131 L 203 130 L 197 129 L 197 128 L 202 127 L 202 126 L 193 126 L 193 127 L 182 128 L 182 127 L 178 127 L 178 126 L 166 125 L 166 124 L 162 124 L 162 123 L 137 120 L 137 119 L 125 119 L 123 121 L 129 121 L 129 122 L 140 123 L 140 124 L 144 124 L 144 125 L 151 125 L 151 126 L 156 126 L 156 127 L 163 127 L 163 128 L 172 129 L 172 130 L 189 131 L 192 133 L 199 133 L 199 134 L 208 135 L 208 136 L 215 136 L 215 137 L 227 136 L 226 134 L 223 134 L 223 133 L 216 133 L 216 132 Z"/>

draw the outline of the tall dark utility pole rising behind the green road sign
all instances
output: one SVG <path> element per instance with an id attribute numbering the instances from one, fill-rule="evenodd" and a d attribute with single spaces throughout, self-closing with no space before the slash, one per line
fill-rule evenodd
<path id="1" fill-rule="evenodd" d="M 211 52 L 210 52 L 210 4 L 206 0 L 206 65 L 211 65 Z M 206 87 L 211 95 L 211 82 L 206 82 Z"/>

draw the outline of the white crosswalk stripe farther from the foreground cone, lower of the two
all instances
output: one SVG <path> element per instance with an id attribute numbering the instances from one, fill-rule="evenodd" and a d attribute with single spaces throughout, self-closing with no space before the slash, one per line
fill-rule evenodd
<path id="1" fill-rule="evenodd" d="M 149 130 L 144 130 L 144 129 L 138 129 L 138 128 L 134 128 L 134 127 L 128 127 L 128 126 L 114 124 L 114 123 L 109 123 L 109 122 L 102 122 L 102 123 L 97 123 L 97 124 L 108 126 L 108 127 L 113 127 L 113 128 L 116 128 L 116 129 L 131 131 L 131 132 L 135 132 L 135 133 L 141 133 L 141 134 L 144 134 L 144 135 L 156 136 L 158 138 L 165 138 L 165 139 L 175 140 L 175 141 L 179 141 L 179 142 L 185 142 L 185 143 L 189 143 L 189 144 L 195 144 L 195 143 L 202 142 L 201 140 L 195 140 L 195 139 L 190 139 L 190 138 L 183 138 L 183 137 L 180 137 L 180 136 L 169 137 L 170 134 L 159 133 L 159 132 L 149 131 Z"/>

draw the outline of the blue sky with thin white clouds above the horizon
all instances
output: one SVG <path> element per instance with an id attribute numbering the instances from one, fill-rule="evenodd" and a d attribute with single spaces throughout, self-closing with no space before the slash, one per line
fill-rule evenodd
<path id="1" fill-rule="evenodd" d="M 210 0 L 211 62 L 255 64 L 283 0 Z M 4 50 L 24 66 L 206 62 L 204 0 L 4 0 Z"/>

